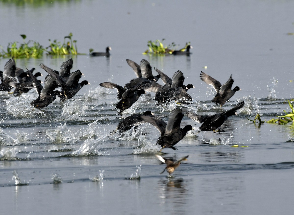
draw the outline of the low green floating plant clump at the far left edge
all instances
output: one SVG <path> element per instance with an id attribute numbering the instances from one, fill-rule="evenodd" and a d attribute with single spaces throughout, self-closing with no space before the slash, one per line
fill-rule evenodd
<path id="1" fill-rule="evenodd" d="M 2 46 L 2 52 L 0 53 L 1 57 L 4 58 L 41 58 L 45 48 L 41 46 L 38 42 L 31 41 L 25 42 L 26 35 L 20 35 L 23 38 L 23 43 L 17 47 L 18 42 L 8 43 L 7 49 L 4 50 Z"/>

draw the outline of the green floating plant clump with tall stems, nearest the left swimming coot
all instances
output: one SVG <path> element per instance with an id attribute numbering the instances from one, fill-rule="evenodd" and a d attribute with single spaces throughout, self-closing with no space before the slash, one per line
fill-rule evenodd
<path id="1" fill-rule="evenodd" d="M 46 50 L 49 55 L 77 55 L 78 54 L 78 49 L 76 47 L 76 40 L 72 40 L 72 33 L 69 33 L 68 36 L 64 37 L 64 41 L 61 44 L 61 42 L 54 40 L 53 42 L 51 42 L 51 40 L 49 39 L 50 42 L 50 46 L 48 46 Z"/>

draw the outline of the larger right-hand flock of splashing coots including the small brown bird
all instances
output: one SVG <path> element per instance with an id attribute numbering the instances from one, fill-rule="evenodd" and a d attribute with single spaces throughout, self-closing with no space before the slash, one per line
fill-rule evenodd
<path id="1" fill-rule="evenodd" d="M 116 104 L 116 109 L 119 109 L 118 113 L 120 115 L 122 115 L 124 110 L 130 108 L 138 100 L 138 98 L 146 92 L 155 93 L 154 100 L 157 101 L 157 105 L 167 104 L 174 100 L 181 104 L 192 103 L 193 98 L 188 94 L 188 89 L 194 88 L 194 86 L 193 84 L 184 85 L 185 77 L 180 70 L 176 71 L 170 78 L 157 68 L 154 68 L 154 70 L 158 73 L 158 75 L 153 75 L 152 67 L 145 59 L 143 59 L 140 64 L 129 59 L 126 59 L 126 61 L 135 72 L 137 78 L 132 79 L 124 86 L 111 82 L 100 83 L 101 87 L 117 90 L 117 98 L 119 101 Z M 165 85 L 157 83 L 159 78 L 161 78 Z M 216 90 L 216 95 L 212 102 L 220 104 L 220 106 L 226 103 L 236 91 L 240 90 L 239 87 L 235 87 L 233 90 L 231 89 L 234 82 L 232 75 L 223 85 L 203 72 L 201 72 L 200 78 L 208 85 L 213 86 Z M 240 102 L 232 109 L 222 113 L 217 113 L 215 115 L 198 115 L 191 111 L 185 112 L 181 108 L 175 108 L 171 111 L 168 117 L 168 122 L 161 120 L 160 117 L 155 116 L 151 111 L 135 113 L 119 122 L 116 130 L 111 132 L 111 134 L 116 131 L 123 133 L 130 130 L 132 127 L 136 130 L 140 124 L 148 122 L 156 127 L 156 129 L 161 133 L 156 142 L 156 144 L 161 146 L 161 150 L 159 152 L 161 152 L 163 148 L 176 150 L 177 148 L 174 147 L 174 145 L 182 140 L 188 131 L 192 130 L 191 125 L 186 125 L 183 128 L 180 127 L 181 120 L 185 114 L 190 119 L 202 124 L 198 133 L 200 131 L 225 132 L 225 130 L 218 129 L 218 127 L 220 127 L 223 122 L 228 119 L 228 117 L 235 115 L 236 111 L 242 108 L 243 105 L 244 102 Z M 181 161 L 186 160 L 188 157 L 182 157 L 174 162 L 163 158 L 160 155 L 156 156 L 163 163 L 166 163 L 166 168 L 164 170 L 167 170 L 169 175 L 179 166 Z"/>

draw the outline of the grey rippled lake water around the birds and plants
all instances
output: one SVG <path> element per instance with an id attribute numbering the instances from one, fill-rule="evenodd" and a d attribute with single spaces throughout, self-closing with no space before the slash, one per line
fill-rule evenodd
<path id="1" fill-rule="evenodd" d="M 20 97 L 1 93 L 0 185 L 1 214 L 292 214 L 294 175 L 293 124 L 254 125 L 289 112 L 293 98 L 293 1 L 61 1 L 41 5 L 0 2 L 0 44 L 20 41 L 20 34 L 48 46 L 70 32 L 78 52 L 86 55 L 17 59 L 20 68 L 39 64 L 59 69 L 73 58 L 73 69 L 84 74 L 84 86 L 71 100 L 57 99 L 44 110 L 29 103 L 31 91 Z M 182 48 L 190 41 L 190 56 L 142 55 L 147 41 L 165 38 Z M 111 56 L 90 57 L 89 48 Z M 148 60 L 172 76 L 177 70 L 192 83 L 191 105 L 156 107 L 154 93 L 145 94 L 123 116 L 115 109 L 116 90 L 99 83 L 124 85 L 136 78 L 126 59 Z M 0 58 L 0 69 L 8 59 Z M 207 68 L 204 68 L 207 67 Z M 220 83 L 232 74 L 239 86 L 233 98 L 216 107 L 214 92 L 200 80 L 203 71 Z M 153 74 L 156 72 L 153 70 Z M 159 83 L 162 84 L 161 80 Z M 238 116 L 220 128 L 201 132 L 191 124 L 176 147 L 164 157 L 189 155 L 166 177 L 155 157 L 159 132 L 149 124 L 123 137 L 110 135 L 122 118 L 151 110 L 167 121 L 171 110 L 188 107 L 215 114 L 245 101 Z M 142 135 L 141 133 L 149 133 Z M 239 147 L 232 147 L 239 145 Z M 241 147 L 248 146 L 248 147 Z M 16 186 L 14 174 L 20 183 Z M 140 179 L 129 179 L 140 175 Z M 62 183 L 54 183 L 61 182 Z"/>

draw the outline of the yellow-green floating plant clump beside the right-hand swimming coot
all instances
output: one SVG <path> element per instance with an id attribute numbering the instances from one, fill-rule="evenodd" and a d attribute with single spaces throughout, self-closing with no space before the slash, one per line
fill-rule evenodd
<path id="1" fill-rule="evenodd" d="M 163 45 L 163 43 L 162 43 L 164 40 L 165 39 L 162 39 L 162 41 L 160 41 L 160 40 L 156 40 L 156 41 L 149 40 L 148 43 L 147 43 L 147 46 L 149 48 L 145 52 L 143 52 L 143 54 L 147 54 L 147 53 L 172 54 L 173 51 L 175 51 L 176 43 L 172 42 L 171 44 L 166 46 L 166 45 Z M 185 51 L 188 45 L 190 45 L 190 42 L 186 43 L 186 46 L 184 48 L 180 49 L 180 51 Z"/>

